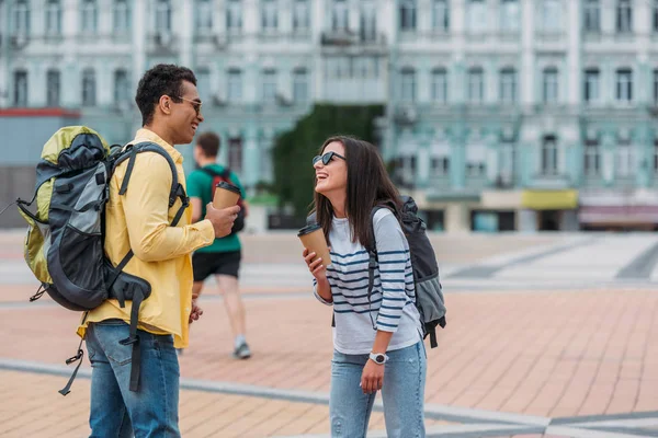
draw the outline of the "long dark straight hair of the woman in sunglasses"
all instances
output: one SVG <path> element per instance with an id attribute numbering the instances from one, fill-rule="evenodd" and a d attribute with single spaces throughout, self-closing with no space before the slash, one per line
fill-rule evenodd
<path id="1" fill-rule="evenodd" d="M 354 137 L 336 136 L 325 141 L 320 154 L 327 145 L 333 141 L 340 142 L 345 148 L 348 165 L 345 215 L 352 229 L 352 241 L 359 240 L 363 246 L 370 247 L 374 240 L 371 219 L 373 207 L 393 203 L 399 211 L 402 205 L 399 193 L 388 177 L 384 161 L 373 145 Z M 331 203 L 325 195 L 315 192 L 314 210 L 325 235 L 329 238 L 333 217 Z"/>

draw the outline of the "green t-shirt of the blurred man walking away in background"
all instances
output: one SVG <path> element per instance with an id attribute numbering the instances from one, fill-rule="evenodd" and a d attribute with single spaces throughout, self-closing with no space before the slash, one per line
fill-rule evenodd
<path id="1" fill-rule="evenodd" d="M 217 174 L 224 173 L 226 169 L 222 164 L 208 164 L 204 169 L 209 169 Z M 238 180 L 238 176 L 230 172 L 230 182 L 238 186 L 240 189 L 240 196 L 245 198 L 245 187 Z M 188 196 L 191 198 L 201 198 L 201 218 L 205 217 L 205 206 L 212 201 L 213 195 L 213 177 L 204 171 L 197 169 L 188 175 Z M 232 251 L 239 251 L 241 249 L 240 238 L 238 234 L 230 234 L 226 238 L 215 239 L 209 246 L 200 247 L 196 250 L 200 253 L 229 253 Z"/>

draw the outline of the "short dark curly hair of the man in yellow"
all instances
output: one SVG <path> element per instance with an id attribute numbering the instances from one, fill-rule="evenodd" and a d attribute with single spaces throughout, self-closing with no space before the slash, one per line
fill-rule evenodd
<path id="1" fill-rule="evenodd" d="M 182 102 L 183 81 L 196 85 L 196 77 L 186 67 L 173 64 L 158 64 L 148 70 L 137 85 L 135 102 L 141 113 L 141 125 L 148 125 L 154 120 L 156 105 L 163 95 L 170 96 L 174 102 Z"/>

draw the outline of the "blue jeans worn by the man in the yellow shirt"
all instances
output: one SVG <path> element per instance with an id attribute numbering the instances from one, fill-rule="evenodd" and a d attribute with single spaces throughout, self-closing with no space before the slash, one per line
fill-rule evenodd
<path id="1" fill-rule="evenodd" d="M 133 346 L 128 325 L 120 320 L 89 324 L 92 438 L 180 437 L 178 427 L 179 364 L 171 335 L 139 334 L 139 391 L 128 390 Z"/>

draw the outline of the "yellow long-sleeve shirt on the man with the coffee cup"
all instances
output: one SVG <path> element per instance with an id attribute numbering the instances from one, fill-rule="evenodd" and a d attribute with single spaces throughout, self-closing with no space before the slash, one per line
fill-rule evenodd
<path id="1" fill-rule="evenodd" d="M 185 185 L 183 157 L 158 135 L 139 129 L 133 145 L 141 141 L 158 143 L 175 163 L 179 183 Z M 136 155 L 135 166 L 124 195 L 120 195 L 127 162 L 115 170 L 110 182 L 110 200 L 105 209 L 105 253 L 116 266 L 132 249 L 133 258 L 124 272 L 147 280 L 151 295 L 139 309 L 138 327 L 154 334 L 172 334 L 178 348 L 188 346 L 189 318 L 192 307 L 191 253 L 215 240 L 208 220 L 190 224 L 192 208 L 188 208 L 177 227 L 171 220 L 181 200 L 169 208 L 171 168 L 155 152 Z M 121 308 L 114 299 L 88 312 L 78 334 L 84 336 L 90 322 L 121 319 L 129 323 L 132 303 Z"/>

